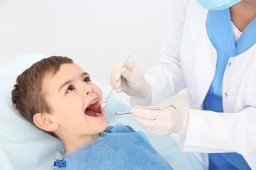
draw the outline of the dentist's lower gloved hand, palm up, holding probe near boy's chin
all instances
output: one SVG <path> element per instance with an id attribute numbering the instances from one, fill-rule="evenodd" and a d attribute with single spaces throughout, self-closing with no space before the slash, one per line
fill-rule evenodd
<path id="1" fill-rule="evenodd" d="M 182 139 L 186 138 L 189 122 L 188 109 L 168 107 L 161 110 L 150 110 L 146 108 L 150 107 L 135 106 L 131 109 L 131 116 L 146 131 L 160 137 L 177 133 Z"/>

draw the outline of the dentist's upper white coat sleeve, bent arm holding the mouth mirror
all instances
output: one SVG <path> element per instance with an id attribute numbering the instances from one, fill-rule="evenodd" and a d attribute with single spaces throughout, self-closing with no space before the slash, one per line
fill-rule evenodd
<path id="1" fill-rule="evenodd" d="M 174 0 L 171 25 L 161 47 L 161 57 L 145 75 L 152 87 L 152 100 L 131 97 L 131 105 L 156 105 L 186 88 L 182 76 L 179 50 L 188 0 Z"/>

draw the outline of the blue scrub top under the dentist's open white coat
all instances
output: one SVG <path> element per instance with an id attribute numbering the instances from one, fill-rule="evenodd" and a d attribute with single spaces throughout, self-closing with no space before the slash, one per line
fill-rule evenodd
<path id="1" fill-rule="evenodd" d="M 256 19 L 247 25 L 236 42 L 232 31 L 230 10 L 209 10 L 207 33 L 217 50 L 217 63 L 213 82 L 203 101 L 203 110 L 223 112 L 223 75 L 230 57 L 242 54 L 256 42 Z M 210 169 L 250 169 L 243 156 L 237 153 L 209 154 Z"/>

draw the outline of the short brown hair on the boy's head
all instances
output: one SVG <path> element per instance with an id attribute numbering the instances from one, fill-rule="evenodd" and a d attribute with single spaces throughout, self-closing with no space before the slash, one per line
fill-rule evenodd
<path id="1" fill-rule="evenodd" d="M 64 63 L 73 63 L 71 58 L 51 56 L 37 61 L 16 78 L 12 90 L 12 104 L 26 120 L 34 124 L 37 112 L 51 113 L 51 108 L 42 92 L 43 78 L 47 73 L 55 75 Z M 53 132 L 46 131 L 56 137 Z"/>

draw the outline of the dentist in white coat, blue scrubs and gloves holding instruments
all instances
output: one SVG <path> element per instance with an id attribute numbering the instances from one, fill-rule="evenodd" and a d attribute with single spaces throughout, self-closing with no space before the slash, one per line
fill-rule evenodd
<path id="1" fill-rule="evenodd" d="M 131 95 L 144 129 L 209 153 L 209 169 L 256 169 L 256 1 L 174 0 L 171 11 L 158 63 L 146 75 L 117 63 L 110 84 Z M 190 109 L 142 109 L 184 88 Z"/>

